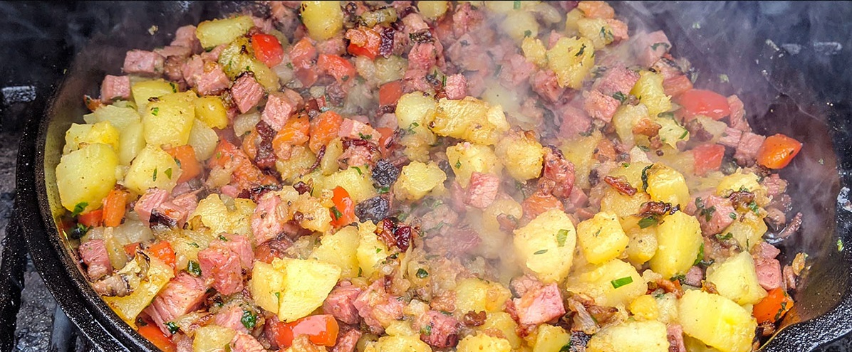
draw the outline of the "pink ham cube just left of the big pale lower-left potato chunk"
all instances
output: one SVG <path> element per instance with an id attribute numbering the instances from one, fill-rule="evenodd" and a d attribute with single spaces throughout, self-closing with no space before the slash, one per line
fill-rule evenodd
<path id="1" fill-rule="evenodd" d="M 199 266 L 204 280 L 212 281 L 216 291 L 227 295 L 243 290 L 239 254 L 230 248 L 210 243 L 210 247 L 199 252 Z"/>

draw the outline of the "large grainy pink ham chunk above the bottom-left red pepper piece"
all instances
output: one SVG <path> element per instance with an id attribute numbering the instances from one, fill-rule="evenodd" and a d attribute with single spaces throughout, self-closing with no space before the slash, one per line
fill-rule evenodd
<path id="1" fill-rule="evenodd" d="M 206 292 L 204 280 L 181 271 L 165 285 L 145 311 L 164 334 L 170 335 L 165 323 L 197 309 L 204 302 Z"/>

